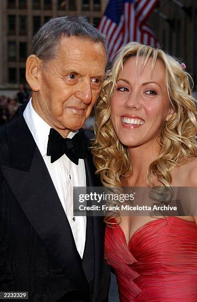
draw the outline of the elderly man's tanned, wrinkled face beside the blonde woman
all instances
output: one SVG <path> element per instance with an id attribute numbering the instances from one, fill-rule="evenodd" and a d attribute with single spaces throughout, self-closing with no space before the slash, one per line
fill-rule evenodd
<path id="1" fill-rule="evenodd" d="M 51 127 L 79 129 L 96 102 L 105 66 L 101 42 L 75 36 L 61 38 L 55 59 L 41 67 L 33 106 Z"/>

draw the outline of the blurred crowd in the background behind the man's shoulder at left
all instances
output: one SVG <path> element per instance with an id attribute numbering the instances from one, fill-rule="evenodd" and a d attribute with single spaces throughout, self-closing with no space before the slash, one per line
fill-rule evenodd
<path id="1" fill-rule="evenodd" d="M 30 99 L 24 84 L 20 84 L 15 97 L 0 96 L 0 125 L 8 122 L 21 104 L 27 104 Z"/>

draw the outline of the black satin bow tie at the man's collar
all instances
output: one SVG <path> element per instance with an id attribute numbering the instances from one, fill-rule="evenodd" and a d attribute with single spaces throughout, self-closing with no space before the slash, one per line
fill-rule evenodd
<path id="1" fill-rule="evenodd" d="M 51 156 L 51 163 L 63 154 L 76 165 L 79 158 L 87 157 L 87 144 L 83 132 L 78 132 L 72 139 L 63 138 L 55 129 L 50 129 L 46 155 Z"/>

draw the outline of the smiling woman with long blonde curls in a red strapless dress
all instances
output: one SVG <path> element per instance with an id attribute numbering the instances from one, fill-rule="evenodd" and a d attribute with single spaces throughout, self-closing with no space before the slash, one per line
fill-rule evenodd
<path id="1" fill-rule="evenodd" d="M 124 46 L 103 85 L 92 153 L 106 187 L 197 187 L 191 77 L 160 49 Z M 197 219 L 106 217 L 121 302 L 197 301 Z"/>

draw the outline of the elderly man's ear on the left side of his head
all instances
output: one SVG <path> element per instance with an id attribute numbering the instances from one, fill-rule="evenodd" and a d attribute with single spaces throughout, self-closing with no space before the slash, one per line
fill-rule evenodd
<path id="1" fill-rule="evenodd" d="M 33 91 L 39 91 L 40 88 L 40 63 L 36 55 L 29 56 L 26 61 L 26 80 Z"/>

